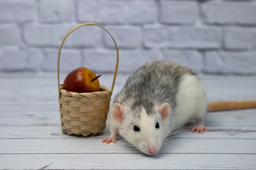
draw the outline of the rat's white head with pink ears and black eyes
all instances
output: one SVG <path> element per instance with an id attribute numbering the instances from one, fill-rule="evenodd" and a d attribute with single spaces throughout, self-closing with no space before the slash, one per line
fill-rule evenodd
<path id="1" fill-rule="evenodd" d="M 171 107 L 167 103 L 158 105 L 148 113 L 143 107 L 129 109 L 115 103 L 111 109 L 113 118 L 121 122 L 119 134 L 130 144 L 147 155 L 156 154 L 166 135 Z"/>

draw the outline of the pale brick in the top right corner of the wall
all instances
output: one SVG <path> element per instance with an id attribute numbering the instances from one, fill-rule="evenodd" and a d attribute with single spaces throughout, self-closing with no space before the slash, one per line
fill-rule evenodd
<path id="1" fill-rule="evenodd" d="M 256 24 L 256 3 L 212 0 L 201 6 L 203 21 L 208 24 Z"/>

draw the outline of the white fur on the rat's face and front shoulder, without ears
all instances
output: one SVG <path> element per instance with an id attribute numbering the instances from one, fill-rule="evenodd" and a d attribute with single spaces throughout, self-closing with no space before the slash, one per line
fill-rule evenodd
<path id="1" fill-rule="evenodd" d="M 125 111 L 129 111 L 126 107 Z M 117 135 L 117 132 L 125 137 L 125 139 L 132 144 L 132 146 L 139 149 L 142 153 L 145 153 L 147 155 L 152 155 L 149 150 L 153 147 L 156 148 L 156 152 L 158 152 L 162 146 L 162 138 L 165 133 L 164 126 L 168 125 L 168 122 L 162 122 L 160 114 L 157 114 L 157 107 L 156 107 L 156 114 L 154 116 L 148 116 L 145 108 L 142 108 L 141 112 L 141 119 L 138 120 L 134 125 L 137 125 L 140 128 L 140 131 L 134 131 L 133 126 L 130 128 L 127 128 L 125 126 L 122 126 L 122 124 L 118 121 L 116 121 L 113 118 L 113 111 L 114 109 L 111 109 L 111 112 L 109 114 L 109 129 L 111 136 Z M 131 114 L 125 114 L 123 124 L 127 125 L 131 120 L 134 120 L 134 118 L 131 116 Z M 156 123 L 159 123 L 160 127 L 157 129 L 155 128 Z M 163 125 L 163 123 L 165 125 Z"/>

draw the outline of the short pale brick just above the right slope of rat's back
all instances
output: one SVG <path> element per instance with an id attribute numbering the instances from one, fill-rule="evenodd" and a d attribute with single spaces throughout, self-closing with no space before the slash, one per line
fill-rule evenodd
<path id="1" fill-rule="evenodd" d="M 194 50 L 163 50 L 163 57 L 180 65 L 192 68 L 196 72 L 201 72 L 203 68 L 203 55 Z"/>

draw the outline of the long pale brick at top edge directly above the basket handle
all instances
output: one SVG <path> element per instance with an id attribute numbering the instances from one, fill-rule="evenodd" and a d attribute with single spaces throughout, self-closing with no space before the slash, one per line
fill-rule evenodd
<path id="1" fill-rule="evenodd" d="M 157 20 L 157 4 L 154 0 L 78 0 L 77 19 L 99 24 L 152 23 Z"/>

